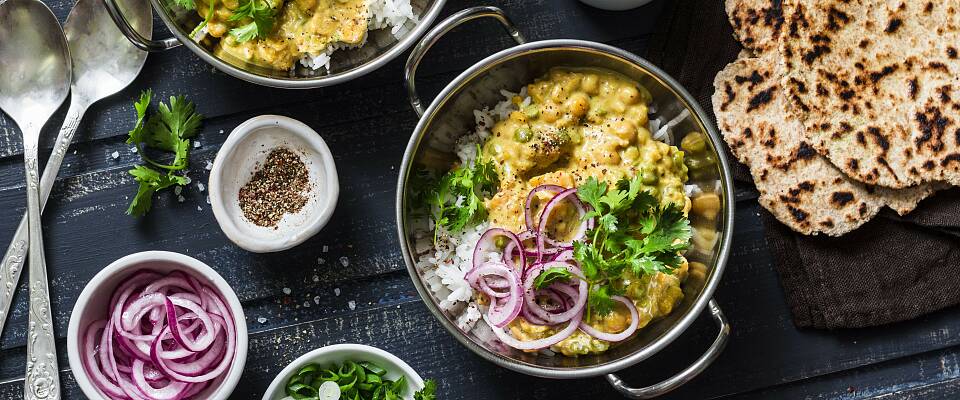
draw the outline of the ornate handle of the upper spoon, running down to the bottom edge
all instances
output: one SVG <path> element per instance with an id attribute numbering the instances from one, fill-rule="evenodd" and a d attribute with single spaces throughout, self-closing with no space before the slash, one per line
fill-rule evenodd
<path id="1" fill-rule="evenodd" d="M 39 128 L 37 128 L 39 130 Z M 36 138 L 39 136 L 33 136 Z M 26 136 L 26 135 L 24 135 Z M 60 398 L 56 336 L 50 310 L 47 263 L 40 226 L 40 172 L 37 167 L 37 142 L 24 140 L 23 157 L 27 169 L 27 222 L 30 241 L 30 322 L 27 326 L 27 372 L 24 400 Z"/>

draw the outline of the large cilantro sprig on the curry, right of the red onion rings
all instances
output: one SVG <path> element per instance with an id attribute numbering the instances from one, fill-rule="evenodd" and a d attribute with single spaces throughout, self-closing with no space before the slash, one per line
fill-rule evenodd
<path id="1" fill-rule="evenodd" d="M 592 208 L 584 218 L 596 221 L 586 239 L 573 244 L 590 284 L 587 306 L 593 313 L 613 310 L 610 297 L 622 294 L 617 278 L 625 270 L 636 276 L 672 273 L 683 263 L 680 252 L 690 246 L 690 221 L 676 204 L 660 204 L 644 191 L 640 177 L 621 179 L 613 188 L 590 177 L 577 188 L 577 197 Z"/>

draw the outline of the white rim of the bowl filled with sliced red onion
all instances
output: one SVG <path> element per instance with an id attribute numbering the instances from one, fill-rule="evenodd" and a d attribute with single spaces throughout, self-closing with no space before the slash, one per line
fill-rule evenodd
<path id="1" fill-rule="evenodd" d="M 196 258 L 170 251 L 142 251 L 120 257 L 104 267 L 100 272 L 97 272 L 93 278 L 90 278 L 86 286 L 83 287 L 83 291 L 80 292 L 80 296 L 73 306 L 73 311 L 70 314 L 70 323 L 67 326 L 67 360 L 70 364 L 70 372 L 73 374 L 74 380 L 77 381 L 77 386 L 80 387 L 80 390 L 89 399 L 109 400 L 103 396 L 99 389 L 90 383 L 90 379 L 87 377 L 87 371 L 83 367 L 83 360 L 81 360 L 80 357 L 80 316 L 83 308 L 90 301 L 90 297 L 93 295 L 95 289 L 105 280 L 118 273 L 127 272 L 126 270 L 128 268 L 147 262 L 169 262 L 199 274 L 197 278 L 202 278 L 213 284 L 215 289 L 223 296 L 223 300 L 227 302 L 227 306 L 230 307 L 230 312 L 233 314 L 234 325 L 237 330 L 237 352 L 234 355 L 233 365 L 230 367 L 227 377 L 224 378 L 223 382 L 220 383 L 220 388 L 215 392 L 216 395 L 207 400 L 228 399 L 233 389 L 236 388 L 237 383 L 240 382 L 240 376 L 243 375 L 243 370 L 247 363 L 247 320 L 243 314 L 243 306 L 240 304 L 240 299 L 237 298 L 237 294 L 233 291 L 233 288 L 230 287 L 230 284 L 228 284 L 217 271 Z M 229 390 L 223 390 L 223 388 L 228 388 Z"/>

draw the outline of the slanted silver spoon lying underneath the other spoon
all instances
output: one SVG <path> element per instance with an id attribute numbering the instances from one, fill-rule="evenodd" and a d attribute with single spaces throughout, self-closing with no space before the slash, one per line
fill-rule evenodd
<path id="1" fill-rule="evenodd" d="M 119 3 L 120 11 L 127 20 L 138 32 L 150 38 L 153 33 L 150 4 L 146 0 Z M 102 0 L 79 0 L 67 16 L 64 32 L 73 59 L 72 94 L 67 116 L 40 178 L 41 210 L 50 197 L 50 189 L 57 178 L 63 157 L 87 108 L 127 87 L 147 60 L 147 53 L 137 50 L 117 29 Z M 3 333 L 3 325 L 23 270 L 29 243 L 27 239 L 27 216 L 24 215 L 0 264 L 0 334 Z"/>

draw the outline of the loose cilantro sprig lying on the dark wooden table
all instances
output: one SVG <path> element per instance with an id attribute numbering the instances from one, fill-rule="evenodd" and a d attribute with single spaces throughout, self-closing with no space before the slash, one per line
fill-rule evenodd
<path id="1" fill-rule="evenodd" d="M 137 147 L 137 153 L 147 165 L 138 165 L 131 169 L 140 187 L 137 195 L 127 208 L 127 215 L 146 215 L 153 204 L 153 194 L 171 186 L 184 186 L 189 181 L 187 177 L 177 174 L 187 168 L 190 151 L 190 138 L 196 136 L 200 130 L 203 116 L 196 113 L 193 103 L 186 101 L 183 96 L 170 97 L 169 105 L 160 103 L 157 113 L 147 117 L 147 109 L 153 91 L 146 90 L 133 106 L 137 110 L 137 122 L 129 132 L 128 144 Z M 163 150 L 174 154 L 170 164 L 163 164 L 147 156 L 145 148 Z M 165 173 L 161 173 L 163 170 Z"/>

